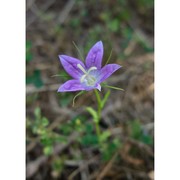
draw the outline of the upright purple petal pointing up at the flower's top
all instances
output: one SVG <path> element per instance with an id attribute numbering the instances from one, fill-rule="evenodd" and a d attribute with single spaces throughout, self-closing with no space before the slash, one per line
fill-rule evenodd
<path id="1" fill-rule="evenodd" d="M 89 69 L 90 67 L 97 67 L 97 69 L 101 68 L 103 57 L 103 44 L 102 41 L 97 42 L 88 52 L 86 57 L 86 67 Z"/>

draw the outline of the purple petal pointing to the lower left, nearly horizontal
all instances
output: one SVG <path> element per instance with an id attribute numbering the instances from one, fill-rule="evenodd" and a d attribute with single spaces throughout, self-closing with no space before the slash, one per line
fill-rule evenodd
<path id="1" fill-rule="evenodd" d="M 85 90 L 82 84 L 80 83 L 80 81 L 77 79 L 72 79 L 62 84 L 59 87 L 58 92 L 80 91 L 80 90 Z"/>

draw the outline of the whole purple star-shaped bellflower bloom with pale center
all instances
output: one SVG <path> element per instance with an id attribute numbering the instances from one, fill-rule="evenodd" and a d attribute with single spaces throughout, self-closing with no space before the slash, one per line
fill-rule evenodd
<path id="1" fill-rule="evenodd" d="M 62 84 L 58 92 L 89 91 L 92 89 L 101 91 L 100 83 L 121 67 L 118 64 L 107 64 L 101 68 L 102 57 L 103 44 L 101 41 L 97 42 L 90 49 L 85 64 L 79 59 L 67 55 L 59 55 L 62 66 L 73 79 Z"/>

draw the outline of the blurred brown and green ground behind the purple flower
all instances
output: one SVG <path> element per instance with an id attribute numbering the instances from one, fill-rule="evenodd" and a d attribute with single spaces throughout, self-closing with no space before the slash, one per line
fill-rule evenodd
<path id="1" fill-rule="evenodd" d="M 83 57 L 99 40 L 103 64 L 123 66 L 107 82 L 111 90 L 98 148 L 92 91 L 57 93 L 69 77 L 59 54 Z M 154 179 L 154 1 L 27 0 L 26 163 L 28 180 Z M 102 95 L 107 92 L 102 89 Z M 106 134 L 105 134 L 106 136 Z"/>

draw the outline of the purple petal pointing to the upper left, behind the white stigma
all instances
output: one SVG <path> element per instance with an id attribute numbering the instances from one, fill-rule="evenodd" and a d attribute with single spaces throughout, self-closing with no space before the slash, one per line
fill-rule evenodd
<path id="1" fill-rule="evenodd" d="M 73 78 L 79 79 L 81 75 L 83 75 L 82 70 L 79 69 L 77 65 L 80 64 L 83 68 L 85 68 L 85 66 L 79 59 L 66 55 L 59 55 L 59 59 L 66 72 Z"/>

